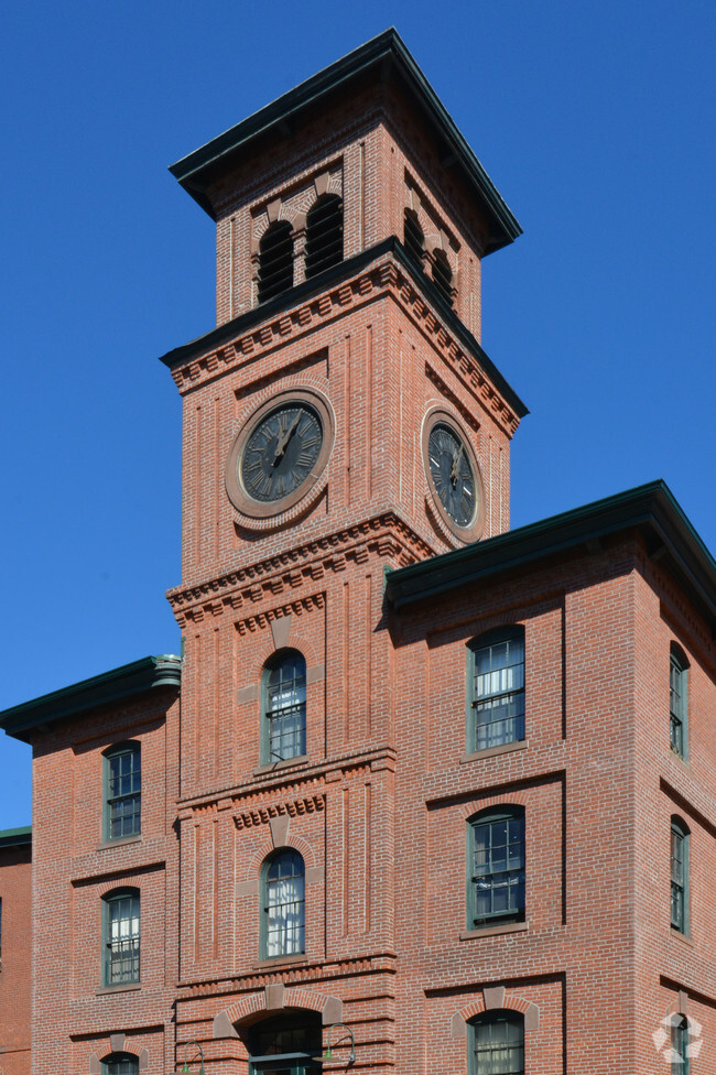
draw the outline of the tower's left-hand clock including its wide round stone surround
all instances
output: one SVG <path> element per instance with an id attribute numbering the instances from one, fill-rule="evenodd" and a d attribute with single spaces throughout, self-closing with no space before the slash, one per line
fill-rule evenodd
<path id="1" fill-rule="evenodd" d="M 260 519 L 288 511 L 321 477 L 333 434 L 333 412 L 317 392 L 282 392 L 264 403 L 229 452 L 226 491 L 234 507 Z"/>

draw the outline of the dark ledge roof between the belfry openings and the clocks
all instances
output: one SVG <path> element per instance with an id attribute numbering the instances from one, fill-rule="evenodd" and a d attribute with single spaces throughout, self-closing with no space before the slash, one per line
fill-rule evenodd
<path id="1" fill-rule="evenodd" d="M 163 355 L 160 361 L 169 366 L 170 369 L 174 369 L 174 367 L 181 366 L 184 362 L 189 362 L 193 358 L 198 358 L 207 351 L 214 350 L 223 344 L 228 344 L 230 340 L 243 335 L 262 321 L 269 321 L 283 313 L 284 310 L 308 302 L 313 295 L 325 291 L 339 280 L 347 279 L 360 272 L 387 253 L 392 253 L 400 262 L 401 268 L 410 273 L 413 283 L 422 293 L 423 297 L 440 312 L 441 319 L 447 329 L 459 339 L 465 349 L 476 359 L 480 369 L 487 374 L 507 403 L 513 408 L 516 414 L 521 419 L 525 414 L 529 414 L 529 409 L 514 389 L 510 387 L 497 366 L 488 358 L 452 306 L 448 306 L 430 276 L 421 271 L 402 242 L 394 236 L 390 236 L 388 239 L 383 239 L 382 242 L 376 243 L 375 247 L 370 247 L 368 250 L 364 250 L 361 253 L 357 253 L 355 257 L 339 262 L 339 264 L 327 269 L 311 280 L 297 284 L 297 286 L 292 287 L 290 291 L 284 291 L 283 294 L 278 295 L 270 302 L 261 303 L 259 306 L 247 310 L 246 313 L 239 314 L 238 317 L 226 322 L 224 325 L 219 325 L 218 328 L 213 328 L 211 332 L 206 333 L 204 336 L 199 336 L 188 344 L 183 344 L 181 347 L 175 347 L 173 350 L 167 351 L 166 355 Z"/>

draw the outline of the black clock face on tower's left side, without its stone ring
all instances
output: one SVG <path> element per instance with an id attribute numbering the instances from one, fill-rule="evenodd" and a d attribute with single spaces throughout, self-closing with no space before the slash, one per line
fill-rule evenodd
<path id="1" fill-rule="evenodd" d="M 274 503 L 311 477 L 323 446 L 318 412 L 302 401 L 283 403 L 253 426 L 238 460 L 238 477 L 258 503 Z"/>

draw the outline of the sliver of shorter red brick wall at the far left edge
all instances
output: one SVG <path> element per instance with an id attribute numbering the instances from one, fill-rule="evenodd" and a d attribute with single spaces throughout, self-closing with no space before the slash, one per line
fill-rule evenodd
<path id="1" fill-rule="evenodd" d="M 0 848 L 0 1071 L 30 1075 L 32 1003 L 31 850 Z"/>

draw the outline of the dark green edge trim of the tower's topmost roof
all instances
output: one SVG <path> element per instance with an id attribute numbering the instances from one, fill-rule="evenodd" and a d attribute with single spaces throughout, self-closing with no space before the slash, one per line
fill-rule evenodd
<path id="1" fill-rule="evenodd" d="M 359 45 L 358 48 L 328 67 L 324 67 L 259 111 L 176 161 L 170 166 L 170 172 L 213 217 L 207 199 L 192 185 L 192 180 L 198 180 L 202 172 L 216 165 L 224 155 L 248 145 L 253 138 L 285 122 L 323 95 L 332 93 L 343 83 L 387 59 L 391 59 L 402 73 L 415 94 L 420 107 L 438 128 L 467 177 L 477 187 L 485 207 L 492 214 L 493 222 L 499 226 L 501 237 L 486 253 L 512 242 L 522 235 L 520 225 L 394 28 L 384 30 Z"/>

